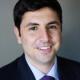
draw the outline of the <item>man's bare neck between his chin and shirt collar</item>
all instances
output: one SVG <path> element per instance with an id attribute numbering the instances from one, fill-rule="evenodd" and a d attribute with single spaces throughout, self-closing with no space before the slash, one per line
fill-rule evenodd
<path id="1" fill-rule="evenodd" d="M 42 73 L 45 73 L 45 74 L 47 74 L 50 71 L 50 69 L 52 68 L 52 66 L 55 63 L 55 58 L 54 58 L 54 60 L 51 60 L 51 61 L 46 62 L 46 63 L 36 62 L 34 60 L 29 59 L 27 56 L 26 56 L 26 60 L 28 62 L 30 62 L 31 65 L 36 67 L 39 71 L 41 71 Z"/>

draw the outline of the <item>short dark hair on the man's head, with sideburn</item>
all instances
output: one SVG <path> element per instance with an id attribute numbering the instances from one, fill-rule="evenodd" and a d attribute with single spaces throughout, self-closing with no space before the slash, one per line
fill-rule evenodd
<path id="1" fill-rule="evenodd" d="M 14 7 L 14 23 L 18 29 L 22 21 L 22 16 L 25 12 L 36 11 L 38 9 L 49 7 L 56 11 L 60 22 L 62 23 L 62 9 L 57 0 L 19 0 Z"/>

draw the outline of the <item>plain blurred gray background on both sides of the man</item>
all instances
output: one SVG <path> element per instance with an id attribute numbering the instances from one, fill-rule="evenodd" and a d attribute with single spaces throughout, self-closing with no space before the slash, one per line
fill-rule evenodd
<path id="1" fill-rule="evenodd" d="M 23 52 L 13 32 L 17 0 L 0 0 L 0 67 Z M 59 0 L 63 8 L 63 44 L 59 55 L 80 62 L 80 0 Z"/>

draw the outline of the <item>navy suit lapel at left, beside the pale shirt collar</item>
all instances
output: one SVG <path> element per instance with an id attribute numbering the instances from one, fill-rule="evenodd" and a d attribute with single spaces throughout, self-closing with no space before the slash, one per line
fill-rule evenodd
<path id="1" fill-rule="evenodd" d="M 27 64 L 24 55 L 22 55 L 18 60 L 18 72 L 21 77 L 20 80 L 35 80 L 35 77 Z"/>

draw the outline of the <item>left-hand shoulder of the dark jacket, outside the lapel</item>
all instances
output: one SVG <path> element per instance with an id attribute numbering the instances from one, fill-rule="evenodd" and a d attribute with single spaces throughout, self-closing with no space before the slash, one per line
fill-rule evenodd
<path id="1" fill-rule="evenodd" d="M 16 60 L 14 60 L 13 62 L 3 66 L 0 68 L 0 80 L 10 80 L 16 76 L 18 70 L 17 70 L 17 65 L 18 65 L 18 60 L 20 59 L 17 58 Z"/>

